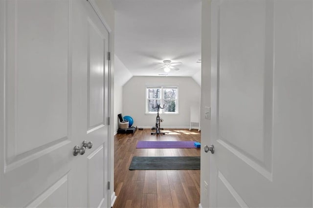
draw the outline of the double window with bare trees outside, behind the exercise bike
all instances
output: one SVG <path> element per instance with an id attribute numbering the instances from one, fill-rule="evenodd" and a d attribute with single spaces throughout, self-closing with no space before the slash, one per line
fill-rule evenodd
<path id="1" fill-rule="evenodd" d="M 146 86 L 146 113 L 156 113 L 157 104 L 164 109 L 160 113 L 178 113 L 178 86 Z"/>

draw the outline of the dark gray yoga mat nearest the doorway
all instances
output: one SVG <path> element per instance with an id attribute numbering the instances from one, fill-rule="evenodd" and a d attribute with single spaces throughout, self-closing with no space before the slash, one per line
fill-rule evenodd
<path id="1" fill-rule="evenodd" d="M 200 170 L 200 157 L 137 157 L 130 170 Z"/>

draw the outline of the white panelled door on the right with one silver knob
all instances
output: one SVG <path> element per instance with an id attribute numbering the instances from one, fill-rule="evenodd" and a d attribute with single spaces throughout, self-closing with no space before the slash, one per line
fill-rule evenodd
<path id="1" fill-rule="evenodd" d="M 312 207 L 312 0 L 213 0 L 210 207 Z"/>

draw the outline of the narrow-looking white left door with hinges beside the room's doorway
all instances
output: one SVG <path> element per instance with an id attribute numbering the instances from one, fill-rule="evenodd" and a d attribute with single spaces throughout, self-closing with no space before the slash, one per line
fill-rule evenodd
<path id="1" fill-rule="evenodd" d="M 73 20 L 72 59 L 73 69 L 79 71 L 75 87 L 79 89 L 79 98 L 75 104 L 80 108 L 78 119 L 82 121 L 78 130 L 82 135 L 80 142 L 92 142 L 91 149 L 87 147 L 80 157 L 80 172 L 87 185 L 83 207 L 108 207 L 109 32 L 89 2 L 80 3 L 81 7 L 73 6 L 77 19 Z"/>

